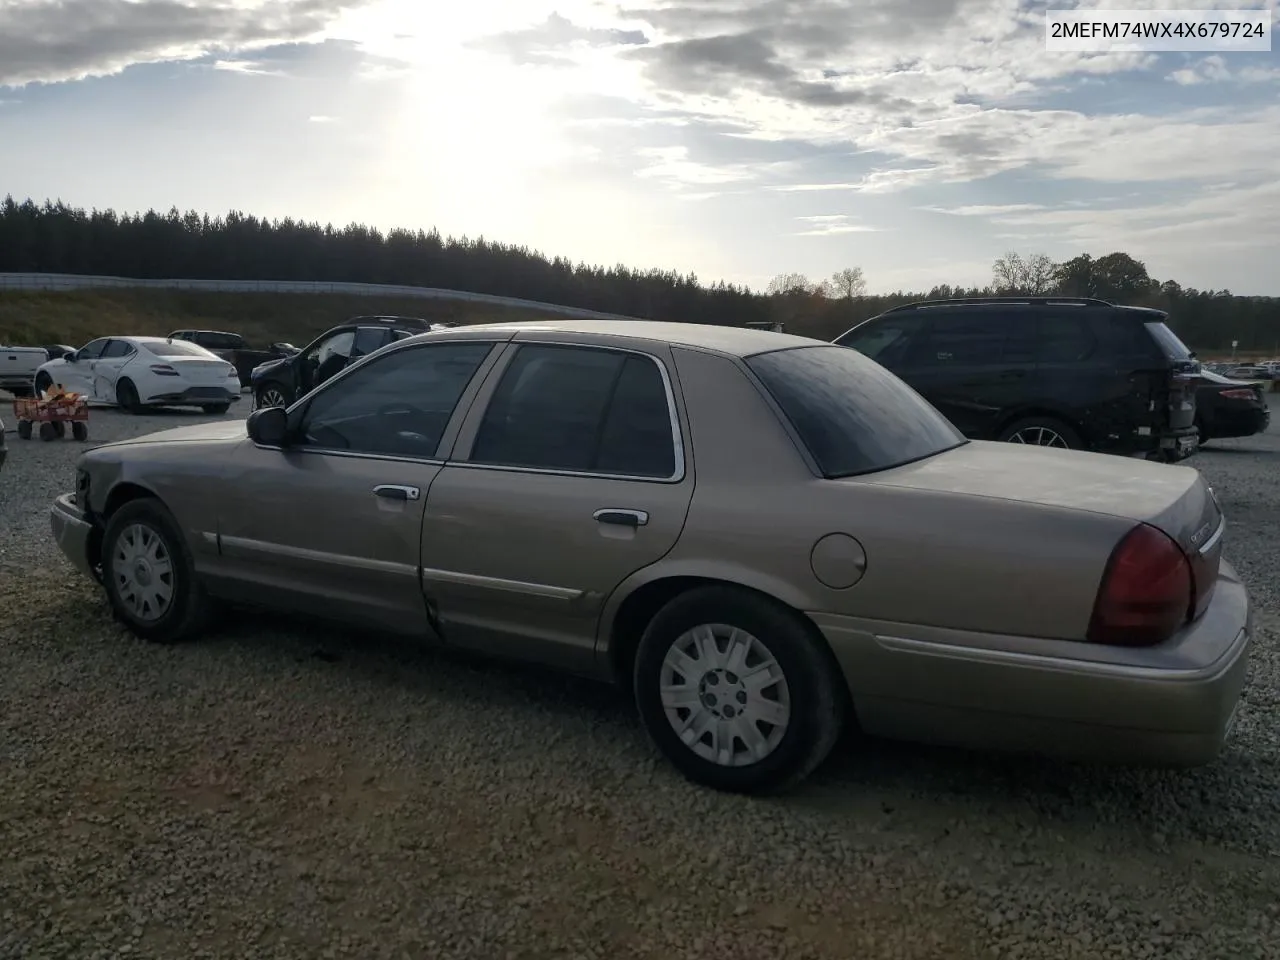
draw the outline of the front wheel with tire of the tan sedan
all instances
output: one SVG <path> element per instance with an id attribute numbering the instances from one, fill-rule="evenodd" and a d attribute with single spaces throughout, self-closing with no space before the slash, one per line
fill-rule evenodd
<path id="1" fill-rule="evenodd" d="M 156 499 L 131 500 L 111 515 L 102 534 L 102 582 L 111 611 L 143 640 L 178 643 L 207 620 L 191 550 Z"/>

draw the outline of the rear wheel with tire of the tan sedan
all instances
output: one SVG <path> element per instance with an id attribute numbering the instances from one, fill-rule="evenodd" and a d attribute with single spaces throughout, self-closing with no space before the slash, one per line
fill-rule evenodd
<path id="1" fill-rule="evenodd" d="M 786 790 L 844 728 L 847 692 L 822 639 L 792 611 L 736 588 L 692 590 L 659 611 L 634 682 L 658 749 L 716 790 Z"/>

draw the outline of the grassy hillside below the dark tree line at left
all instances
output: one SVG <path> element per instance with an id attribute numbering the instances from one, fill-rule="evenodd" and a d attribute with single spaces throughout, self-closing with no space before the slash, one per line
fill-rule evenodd
<path id="1" fill-rule="evenodd" d="M 95 337 L 163 337 L 170 330 L 196 328 L 239 333 L 255 347 L 276 340 L 302 347 L 334 324 L 369 314 L 461 324 L 550 319 L 522 308 L 415 297 L 165 289 L 0 291 L 0 343 L 81 347 Z"/>

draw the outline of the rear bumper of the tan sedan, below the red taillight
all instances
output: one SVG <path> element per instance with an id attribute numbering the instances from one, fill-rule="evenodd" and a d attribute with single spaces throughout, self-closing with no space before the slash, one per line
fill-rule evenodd
<path id="1" fill-rule="evenodd" d="M 1203 764 L 1221 751 L 1253 636 L 1248 594 L 1225 562 L 1204 614 L 1160 648 L 959 641 L 954 631 L 813 618 L 868 733 L 1156 765 Z"/>

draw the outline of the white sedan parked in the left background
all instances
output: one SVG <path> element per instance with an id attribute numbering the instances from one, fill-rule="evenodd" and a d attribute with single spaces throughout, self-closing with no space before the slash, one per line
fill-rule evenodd
<path id="1" fill-rule="evenodd" d="M 143 407 L 200 407 L 225 413 L 241 398 L 236 367 L 216 353 L 163 337 L 101 337 L 36 371 L 36 390 L 54 384 L 137 412 Z"/>

